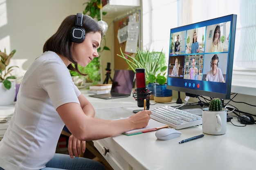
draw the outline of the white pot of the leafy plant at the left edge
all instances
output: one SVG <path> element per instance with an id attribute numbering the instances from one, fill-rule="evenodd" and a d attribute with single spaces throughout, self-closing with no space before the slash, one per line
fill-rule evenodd
<path id="1" fill-rule="evenodd" d="M 8 90 L 4 84 L 0 82 L 0 106 L 11 105 L 16 95 L 15 82 L 11 82 L 11 88 Z"/>

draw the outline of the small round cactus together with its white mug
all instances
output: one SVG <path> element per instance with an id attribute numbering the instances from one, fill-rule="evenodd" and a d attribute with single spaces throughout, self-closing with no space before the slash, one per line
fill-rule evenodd
<path id="1" fill-rule="evenodd" d="M 202 131 L 209 135 L 223 135 L 227 131 L 227 108 L 219 98 L 211 99 L 208 108 L 202 109 Z"/>

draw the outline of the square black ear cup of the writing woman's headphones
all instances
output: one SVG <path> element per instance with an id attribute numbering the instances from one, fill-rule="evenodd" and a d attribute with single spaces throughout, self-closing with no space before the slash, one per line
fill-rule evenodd
<path id="1" fill-rule="evenodd" d="M 70 31 L 72 42 L 81 43 L 85 39 L 85 29 L 81 26 L 73 26 Z"/>

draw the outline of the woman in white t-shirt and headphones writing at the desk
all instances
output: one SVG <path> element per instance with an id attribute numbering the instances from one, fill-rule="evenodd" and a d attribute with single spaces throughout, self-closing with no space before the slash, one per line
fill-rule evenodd
<path id="1" fill-rule="evenodd" d="M 74 28 L 79 16 L 63 20 L 45 42 L 44 53 L 25 73 L 13 117 L 0 141 L 0 170 L 101 170 L 101 163 L 79 157 L 81 150 L 85 152 L 85 141 L 147 126 L 149 110 L 115 121 L 94 118 L 92 104 L 72 82 L 68 68 L 79 72 L 77 64 L 86 66 L 99 56 L 102 29 L 97 21 L 82 14 L 81 26 Z M 72 34 L 76 29 L 84 29 L 85 36 L 83 31 Z M 72 133 L 70 155 L 55 154 L 64 125 Z"/>

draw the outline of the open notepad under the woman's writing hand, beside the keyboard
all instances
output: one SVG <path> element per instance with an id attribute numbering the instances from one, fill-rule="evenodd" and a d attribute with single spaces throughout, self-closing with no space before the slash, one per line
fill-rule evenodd
<path id="1" fill-rule="evenodd" d="M 124 132 L 124 135 L 137 135 L 137 134 L 141 134 L 141 133 L 146 133 L 146 132 L 150 132 L 150 131 L 154 131 L 154 130 L 158 130 L 158 129 L 162 129 L 162 128 L 167 128 L 168 125 L 163 124 L 159 121 L 156 121 L 154 119 L 150 119 L 148 122 L 148 126 L 146 126 L 145 128 L 141 128 L 141 129 L 135 129 L 135 130 L 130 130 L 127 132 Z"/>

